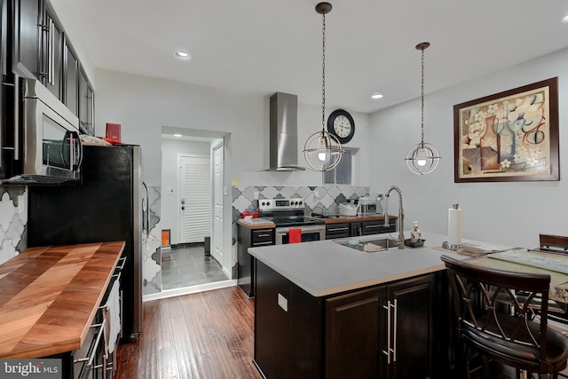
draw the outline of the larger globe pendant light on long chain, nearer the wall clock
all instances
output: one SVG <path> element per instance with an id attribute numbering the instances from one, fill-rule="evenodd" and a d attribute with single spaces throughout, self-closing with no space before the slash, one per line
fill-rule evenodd
<path id="1" fill-rule="evenodd" d="M 322 18 L 322 75 L 321 75 L 321 131 L 313 133 L 305 142 L 305 161 L 317 171 L 334 170 L 341 161 L 343 147 L 335 136 L 326 131 L 326 13 L 331 12 L 331 4 L 319 3 L 316 12 Z"/>

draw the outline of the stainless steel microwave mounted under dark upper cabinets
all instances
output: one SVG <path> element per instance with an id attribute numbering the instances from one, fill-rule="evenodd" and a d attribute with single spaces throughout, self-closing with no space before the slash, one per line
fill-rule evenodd
<path id="1" fill-rule="evenodd" d="M 12 175 L 5 185 L 59 185 L 80 179 L 79 119 L 36 79 L 21 80 Z"/>

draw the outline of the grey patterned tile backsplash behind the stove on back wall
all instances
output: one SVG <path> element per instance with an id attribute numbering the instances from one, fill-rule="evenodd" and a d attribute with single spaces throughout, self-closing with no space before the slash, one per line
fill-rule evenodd
<path id="1" fill-rule="evenodd" d="M 241 218 L 245 210 L 256 209 L 255 193 L 258 199 L 300 197 L 304 199 L 305 214 L 338 213 L 339 204 L 358 200 L 369 195 L 368 186 L 233 186 L 233 223 Z"/>

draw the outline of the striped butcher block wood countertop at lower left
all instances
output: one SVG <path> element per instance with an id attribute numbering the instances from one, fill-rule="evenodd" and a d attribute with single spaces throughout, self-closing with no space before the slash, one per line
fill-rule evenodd
<path id="1" fill-rule="evenodd" d="M 0 265 L 0 358 L 81 347 L 123 241 L 27 249 Z"/>

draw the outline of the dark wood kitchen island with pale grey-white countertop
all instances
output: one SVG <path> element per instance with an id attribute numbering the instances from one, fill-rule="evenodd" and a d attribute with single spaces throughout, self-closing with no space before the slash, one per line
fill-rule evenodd
<path id="1" fill-rule="evenodd" d="M 384 237 L 395 238 L 359 241 Z M 255 363 L 264 376 L 447 377 L 440 256 L 454 253 L 432 249 L 446 236 L 422 238 L 425 247 L 372 253 L 337 241 L 249 249 L 257 260 Z"/>

